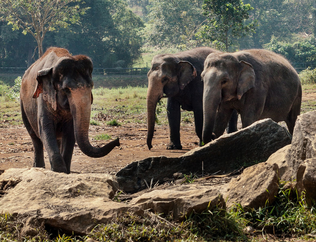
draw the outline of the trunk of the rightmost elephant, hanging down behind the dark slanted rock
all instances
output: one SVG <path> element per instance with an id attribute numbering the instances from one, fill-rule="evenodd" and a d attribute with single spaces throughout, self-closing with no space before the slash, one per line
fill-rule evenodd
<path id="1" fill-rule="evenodd" d="M 204 86 L 205 88 L 205 86 Z M 215 95 L 214 95 L 215 94 Z M 221 90 L 212 92 L 209 88 L 204 89 L 203 93 L 203 132 L 202 140 L 204 144 L 212 141 L 212 134 L 216 119 L 216 112 L 221 103 Z"/>

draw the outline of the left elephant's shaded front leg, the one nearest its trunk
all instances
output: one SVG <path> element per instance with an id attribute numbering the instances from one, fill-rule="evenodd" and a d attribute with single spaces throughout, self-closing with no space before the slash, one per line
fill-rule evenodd
<path id="1" fill-rule="evenodd" d="M 70 174 L 70 164 L 72 153 L 74 151 L 76 139 L 74 133 L 73 121 L 63 125 L 63 135 L 61 139 L 61 155 L 63 156 L 66 164 L 67 174 Z"/>

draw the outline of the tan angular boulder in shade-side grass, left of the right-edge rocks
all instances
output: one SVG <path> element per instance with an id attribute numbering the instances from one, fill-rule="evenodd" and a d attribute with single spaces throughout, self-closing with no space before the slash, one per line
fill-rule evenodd
<path id="1" fill-rule="evenodd" d="M 271 204 L 279 189 L 278 180 L 276 164 L 262 162 L 248 167 L 229 183 L 227 192 L 223 194 L 226 206 L 239 203 L 248 210 L 264 207 L 267 201 Z"/>

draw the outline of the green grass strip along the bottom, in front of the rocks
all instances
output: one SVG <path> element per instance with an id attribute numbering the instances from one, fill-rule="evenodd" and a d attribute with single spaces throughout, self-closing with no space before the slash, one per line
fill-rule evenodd
<path id="1" fill-rule="evenodd" d="M 119 199 L 118 199 L 119 200 Z M 97 225 L 83 237 L 59 234 L 49 236 L 44 227 L 38 228 L 36 237 L 25 241 L 258 241 L 256 236 L 247 236 L 245 228 L 252 226 L 255 234 L 276 234 L 280 240 L 292 237 L 303 239 L 307 234 L 316 234 L 316 210 L 308 207 L 293 189 L 285 188 L 281 182 L 276 201 L 257 210 L 245 211 L 236 204 L 231 209 L 210 207 L 202 213 L 192 213 L 183 221 L 172 216 L 153 214 L 143 216 L 123 213 L 108 224 Z M 19 233 L 22 223 L 9 214 L 0 215 L 0 240 L 21 241 Z M 269 239 L 269 236 L 267 236 Z M 308 238 L 308 237 L 305 237 Z M 270 240 L 269 240 L 270 241 Z"/>

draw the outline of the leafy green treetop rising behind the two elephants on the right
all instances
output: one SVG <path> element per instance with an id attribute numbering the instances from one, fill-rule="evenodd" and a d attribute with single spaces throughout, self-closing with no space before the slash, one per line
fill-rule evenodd
<path id="1" fill-rule="evenodd" d="M 255 30 L 256 20 L 245 23 L 249 19 L 248 11 L 253 8 L 241 0 L 204 0 L 202 8 L 207 24 L 200 27 L 197 37 L 215 43 L 217 48 L 228 51 L 234 37 L 245 36 Z"/>

